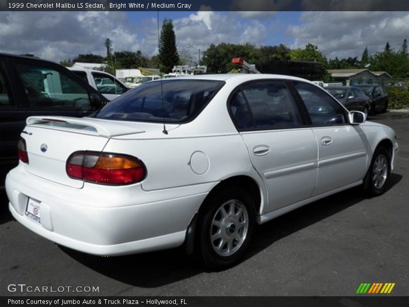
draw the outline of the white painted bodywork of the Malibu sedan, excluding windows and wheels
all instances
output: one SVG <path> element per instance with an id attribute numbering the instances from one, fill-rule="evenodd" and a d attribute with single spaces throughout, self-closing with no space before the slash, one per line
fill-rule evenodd
<path id="1" fill-rule="evenodd" d="M 225 84 L 194 120 L 167 123 L 168 134 L 163 123 L 52 117 L 70 123 L 60 127 L 44 125 L 46 117 L 28 118 L 21 136 L 29 164 L 20 161 L 6 179 L 16 220 L 82 252 L 140 253 L 182 245 L 207 195 L 229 180 L 245 179 L 257 187 L 256 221 L 262 224 L 362 184 L 381 142 L 389 146 L 393 168 L 395 133 L 373 122 L 238 131 L 226 106 L 237 86 L 266 79 L 309 81 L 282 75 L 191 78 Z M 345 112 L 351 121 L 352 114 Z M 48 144 L 47 152 L 40 151 L 41 144 Z M 78 150 L 138 157 L 147 176 L 121 186 L 72 179 L 66 161 Z M 29 198 L 39 205 L 41 223 L 26 216 Z"/>

